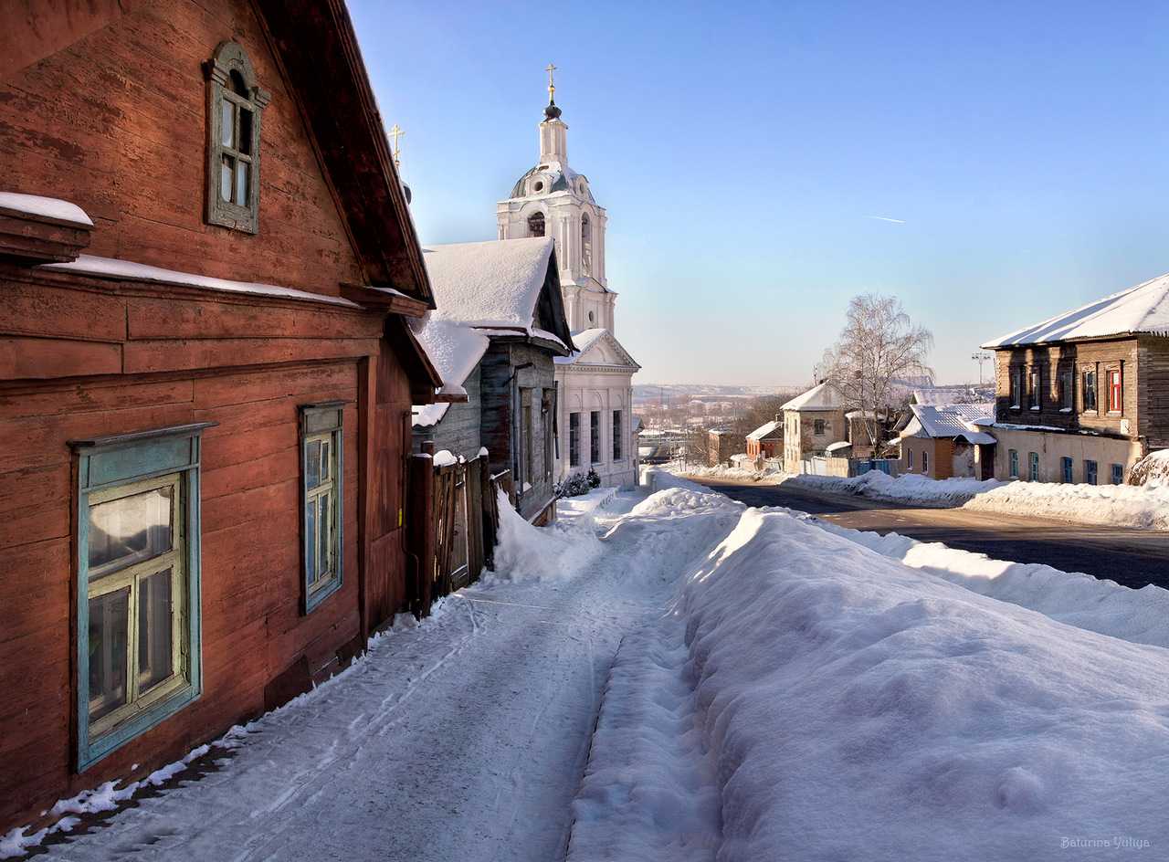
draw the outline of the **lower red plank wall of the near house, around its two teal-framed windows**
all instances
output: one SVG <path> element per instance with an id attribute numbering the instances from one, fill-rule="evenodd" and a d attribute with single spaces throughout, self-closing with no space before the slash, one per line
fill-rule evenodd
<path id="1" fill-rule="evenodd" d="M 265 686 L 310 672 L 359 635 L 358 531 L 345 533 L 345 584 L 300 614 L 297 406 L 353 402 L 355 364 L 104 380 L 0 391 L 0 822 L 34 806 L 184 755 L 264 710 Z M 357 426 L 357 405 L 345 409 Z M 82 776 L 71 776 L 72 438 L 187 422 L 202 464 L 203 696 Z M 358 436 L 345 436 L 345 522 L 357 522 Z"/>

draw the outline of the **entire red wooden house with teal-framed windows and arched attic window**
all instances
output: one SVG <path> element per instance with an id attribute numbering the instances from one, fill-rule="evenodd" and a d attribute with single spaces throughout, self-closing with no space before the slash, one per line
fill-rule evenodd
<path id="1" fill-rule="evenodd" d="M 288 700 L 406 605 L 410 405 L 440 385 L 341 0 L 16 5 L 0 834 Z"/>

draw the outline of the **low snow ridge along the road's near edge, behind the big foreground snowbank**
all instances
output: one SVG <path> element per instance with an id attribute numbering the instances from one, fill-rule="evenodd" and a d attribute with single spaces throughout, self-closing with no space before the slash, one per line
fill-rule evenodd
<path id="1" fill-rule="evenodd" d="M 1115 581 L 1067 572 L 1040 563 L 1011 563 L 985 554 L 919 542 L 897 533 L 880 535 L 828 521 L 822 529 L 981 596 L 1038 611 L 1077 628 L 1134 644 L 1169 647 L 1169 590 L 1133 590 Z"/>

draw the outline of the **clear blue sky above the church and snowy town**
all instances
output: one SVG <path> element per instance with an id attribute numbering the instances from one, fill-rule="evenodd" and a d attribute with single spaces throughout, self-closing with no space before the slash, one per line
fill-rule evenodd
<path id="1" fill-rule="evenodd" d="M 559 67 L 638 382 L 804 383 L 869 291 L 970 380 L 1169 271 L 1169 4 L 547 8 L 350 0 L 423 242 L 494 238 Z"/>

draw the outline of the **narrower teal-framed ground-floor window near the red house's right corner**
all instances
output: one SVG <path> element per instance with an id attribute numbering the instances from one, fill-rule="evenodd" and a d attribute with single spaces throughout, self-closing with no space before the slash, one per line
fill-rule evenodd
<path id="1" fill-rule="evenodd" d="M 300 408 L 302 573 L 304 612 L 341 589 L 345 493 L 341 417 L 345 402 Z"/>

